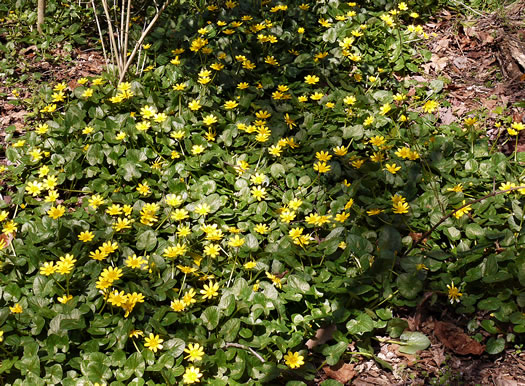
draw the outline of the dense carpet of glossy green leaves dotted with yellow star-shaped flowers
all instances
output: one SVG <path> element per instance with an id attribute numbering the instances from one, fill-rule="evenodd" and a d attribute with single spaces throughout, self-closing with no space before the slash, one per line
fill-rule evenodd
<path id="1" fill-rule="evenodd" d="M 388 367 L 378 336 L 426 349 L 397 315 L 423 295 L 519 344 L 524 160 L 438 124 L 445 82 L 408 76 L 424 11 L 177 3 L 126 81 L 44 85 L 6 128 L 3 381 L 305 384 Z"/>

